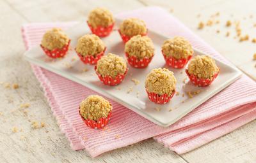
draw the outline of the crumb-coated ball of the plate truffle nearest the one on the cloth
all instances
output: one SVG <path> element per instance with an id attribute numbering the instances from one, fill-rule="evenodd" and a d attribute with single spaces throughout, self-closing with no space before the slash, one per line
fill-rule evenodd
<path id="1" fill-rule="evenodd" d="M 97 73 L 104 76 L 115 78 L 118 74 L 124 74 L 127 65 L 123 57 L 119 57 L 113 53 L 108 53 L 100 58 L 97 62 Z"/>

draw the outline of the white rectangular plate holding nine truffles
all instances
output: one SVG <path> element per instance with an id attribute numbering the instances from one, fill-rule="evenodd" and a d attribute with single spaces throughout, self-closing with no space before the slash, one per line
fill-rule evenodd
<path id="1" fill-rule="evenodd" d="M 116 20 L 116 24 L 120 24 L 120 20 Z M 204 103 L 204 101 L 220 92 L 241 76 L 241 72 L 236 69 L 236 67 L 228 66 L 227 64 L 216 60 L 216 64 L 221 69 L 216 80 L 209 87 L 195 87 L 191 82 L 189 82 L 184 69 L 169 68 L 177 78 L 176 90 L 179 92 L 179 96 L 173 96 L 170 103 L 167 104 L 154 104 L 150 102 L 147 97 L 144 81 L 150 70 L 158 67 L 165 67 L 164 57 L 161 53 L 161 45 L 164 40 L 168 39 L 166 36 L 148 30 L 148 36 L 153 40 L 156 49 L 152 62 L 150 62 L 149 66 L 145 69 L 135 69 L 127 64 L 129 71 L 127 76 L 125 76 L 125 80 L 118 86 L 109 87 L 103 85 L 99 81 L 99 78 L 95 74 L 94 66 L 83 64 L 74 51 L 77 39 L 86 33 L 90 33 L 90 29 L 88 29 L 86 23 L 78 24 L 66 32 L 68 37 L 72 40 L 70 43 L 72 50 L 68 51 L 65 58 L 50 59 L 44 54 L 39 45 L 28 50 L 24 54 L 25 58 L 33 64 L 44 67 L 49 71 L 60 74 L 69 80 L 95 90 L 96 92 L 99 92 L 100 94 L 103 94 L 104 96 L 126 106 L 142 117 L 164 127 L 167 127 L 184 117 L 190 111 Z M 106 53 L 111 52 L 125 57 L 124 43 L 122 43 L 122 39 L 120 38 L 118 31 L 114 30 L 110 36 L 102 38 L 102 40 L 107 46 Z M 195 55 L 206 54 L 195 50 Z M 85 68 L 88 69 L 87 72 L 83 72 L 83 69 Z M 136 78 L 140 83 L 135 85 L 132 78 Z M 186 84 L 183 83 L 185 78 L 187 78 Z M 127 93 L 131 87 L 132 92 Z M 193 98 L 189 98 L 186 95 L 186 92 L 193 92 L 195 90 L 200 90 L 200 94 Z M 182 94 L 185 94 L 185 96 L 182 97 Z M 170 111 L 170 108 L 172 108 L 172 111 Z M 113 109 L 115 110 L 115 108 Z"/>

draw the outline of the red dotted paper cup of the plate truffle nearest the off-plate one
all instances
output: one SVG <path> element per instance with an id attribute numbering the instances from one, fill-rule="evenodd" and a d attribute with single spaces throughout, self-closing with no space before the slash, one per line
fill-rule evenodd
<path id="1" fill-rule="evenodd" d="M 104 85 L 109 85 L 109 86 L 115 86 L 120 84 L 123 80 L 125 75 L 127 74 L 128 69 L 126 69 L 124 74 L 118 74 L 115 78 L 112 78 L 111 76 L 102 76 L 101 74 L 99 74 L 96 69 L 97 66 L 94 67 L 95 72 L 97 74 L 97 76 L 99 77 L 100 81 L 102 81 L 102 83 L 104 83 Z"/>

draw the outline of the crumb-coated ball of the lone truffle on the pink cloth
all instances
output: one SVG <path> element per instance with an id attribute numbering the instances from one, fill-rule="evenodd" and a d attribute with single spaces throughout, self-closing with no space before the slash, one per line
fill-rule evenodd
<path id="1" fill-rule="evenodd" d="M 88 96 L 80 103 L 79 111 L 84 119 L 98 120 L 108 117 L 112 106 L 108 100 L 98 95 Z"/>

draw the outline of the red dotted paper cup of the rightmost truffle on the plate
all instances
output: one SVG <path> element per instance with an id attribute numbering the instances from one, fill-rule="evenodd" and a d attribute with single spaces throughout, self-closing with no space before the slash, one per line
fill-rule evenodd
<path id="1" fill-rule="evenodd" d="M 208 86 L 212 83 L 212 81 L 215 80 L 215 78 L 218 76 L 220 71 L 218 71 L 218 73 L 214 74 L 214 76 L 212 76 L 211 79 L 204 79 L 204 78 L 197 78 L 197 76 L 195 76 L 194 74 L 189 74 L 188 73 L 188 69 L 186 69 L 186 74 L 188 74 L 188 77 L 190 79 L 190 81 L 199 87 L 205 87 Z"/>

